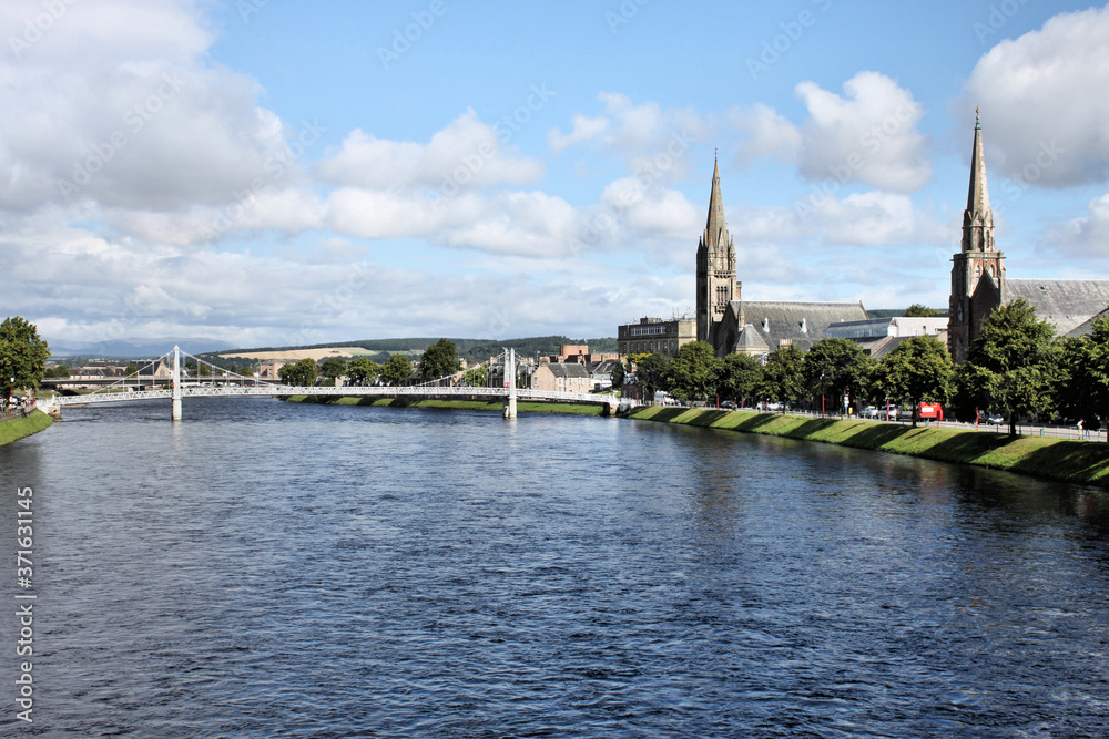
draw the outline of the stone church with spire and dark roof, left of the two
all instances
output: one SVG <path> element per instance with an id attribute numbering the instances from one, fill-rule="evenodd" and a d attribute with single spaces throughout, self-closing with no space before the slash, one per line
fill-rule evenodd
<path id="1" fill-rule="evenodd" d="M 724 222 L 720 167 L 712 170 L 709 219 L 696 249 L 696 338 L 718 357 L 755 357 L 786 345 L 802 351 L 824 338 L 832 324 L 866 320 L 862 302 L 781 302 L 743 300 L 735 280 L 735 243 Z"/>

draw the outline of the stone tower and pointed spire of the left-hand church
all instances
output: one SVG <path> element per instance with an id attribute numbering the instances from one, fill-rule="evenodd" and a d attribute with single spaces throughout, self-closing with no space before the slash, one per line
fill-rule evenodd
<path id="1" fill-rule="evenodd" d="M 716 333 L 732 300 L 740 299 L 735 281 L 735 243 L 724 223 L 720 167 L 712 165 L 709 220 L 696 247 L 696 339 L 716 346 Z"/>

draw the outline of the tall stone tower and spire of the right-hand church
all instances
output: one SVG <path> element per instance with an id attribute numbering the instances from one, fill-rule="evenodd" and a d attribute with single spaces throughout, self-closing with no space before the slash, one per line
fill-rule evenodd
<path id="1" fill-rule="evenodd" d="M 990 311 L 1005 301 L 1005 255 L 994 246 L 994 214 L 989 209 L 986 157 L 981 151 L 981 123 L 977 111 L 970 153 L 970 191 L 963 214 L 963 245 L 952 261 L 947 345 L 952 358 L 962 362 Z"/>

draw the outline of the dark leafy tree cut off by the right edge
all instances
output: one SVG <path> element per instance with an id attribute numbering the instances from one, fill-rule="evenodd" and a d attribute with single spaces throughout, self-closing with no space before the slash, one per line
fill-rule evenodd
<path id="1" fill-rule="evenodd" d="M 1109 410 L 1109 320 L 1099 316 L 1088 336 L 1066 339 L 1060 356 L 1057 401 L 1067 418 L 1093 428 Z"/>

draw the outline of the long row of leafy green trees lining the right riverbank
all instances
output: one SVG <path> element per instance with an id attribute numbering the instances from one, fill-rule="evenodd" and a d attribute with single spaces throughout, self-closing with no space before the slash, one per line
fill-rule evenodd
<path id="1" fill-rule="evenodd" d="M 1003 412 L 1010 432 L 1019 417 L 1082 419 L 1097 428 L 1099 415 L 1109 411 L 1109 321 L 1096 319 L 1086 337 L 1058 339 L 1024 300 L 990 315 L 957 368 L 946 345 L 930 336 L 902 341 L 881 360 L 845 339 L 825 339 L 807 353 L 781 347 L 765 363 L 744 355 L 718 358 L 700 341 L 683 346 L 673 359 L 658 353 L 630 359 L 647 397 L 665 390 L 684 401 L 771 400 L 813 408 L 823 401 L 838 411 L 844 398 L 848 406 L 888 400 L 914 409 L 932 401 L 962 420 L 974 420 L 978 411 Z M 625 371 L 613 373 L 614 386 Z"/>

